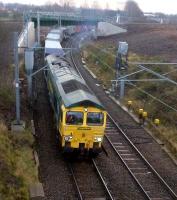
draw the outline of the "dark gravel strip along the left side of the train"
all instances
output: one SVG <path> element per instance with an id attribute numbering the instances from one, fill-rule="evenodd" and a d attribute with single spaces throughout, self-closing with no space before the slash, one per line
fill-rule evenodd
<path id="1" fill-rule="evenodd" d="M 44 66 L 43 53 L 35 53 L 35 69 Z M 68 167 L 57 146 L 53 112 L 49 103 L 43 72 L 34 79 L 34 125 L 36 129 L 37 152 L 39 156 L 40 181 L 46 200 L 77 199 Z"/>

